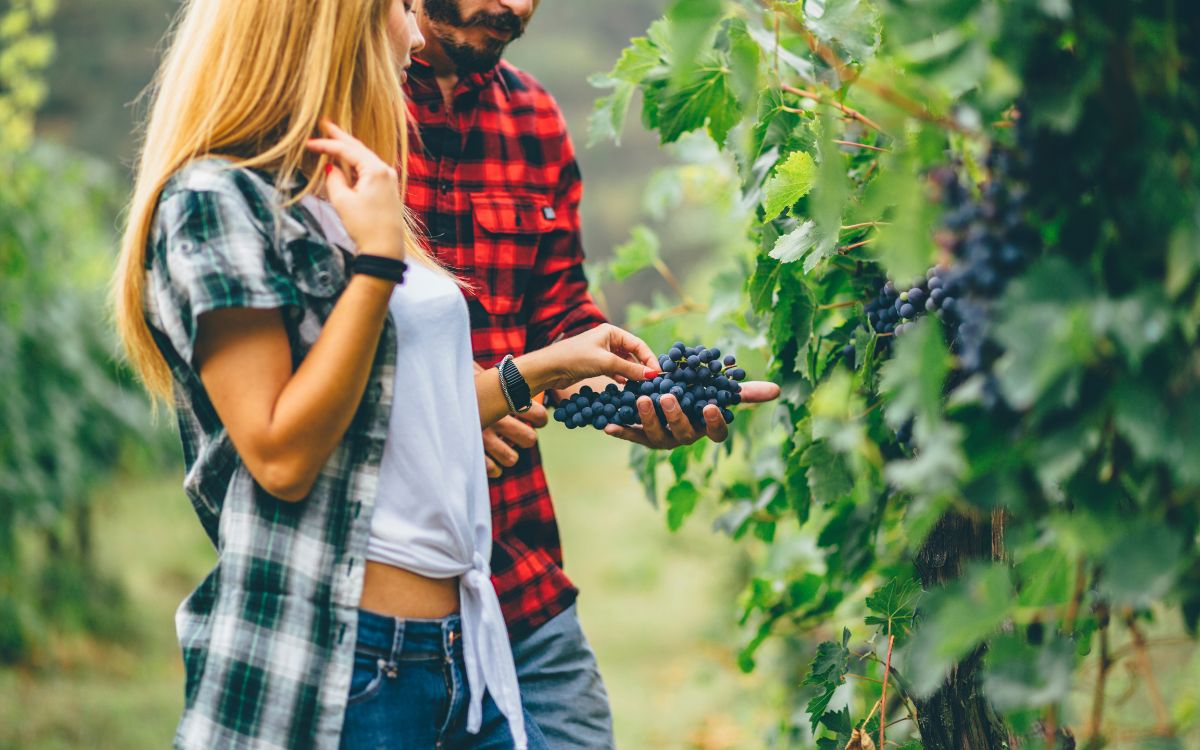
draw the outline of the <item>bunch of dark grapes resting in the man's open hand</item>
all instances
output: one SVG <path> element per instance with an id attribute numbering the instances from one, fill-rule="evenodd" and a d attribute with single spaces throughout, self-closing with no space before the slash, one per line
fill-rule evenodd
<path id="1" fill-rule="evenodd" d="M 701 428 L 704 407 L 716 406 L 726 424 L 733 421 L 733 407 L 742 402 L 742 380 L 746 371 L 737 366 L 732 354 L 721 355 L 713 347 L 689 347 L 677 341 L 671 350 L 659 356 L 661 374 L 653 380 L 629 380 L 624 386 L 610 383 L 602 391 L 584 385 L 580 392 L 554 408 L 554 420 L 568 428 L 592 426 L 604 430 L 608 425 L 632 427 L 642 424 L 637 400 L 648 396 L 654 403 L 659 424 L 667 426 L 659 401 L 671 394 L 691 424 Z"/>

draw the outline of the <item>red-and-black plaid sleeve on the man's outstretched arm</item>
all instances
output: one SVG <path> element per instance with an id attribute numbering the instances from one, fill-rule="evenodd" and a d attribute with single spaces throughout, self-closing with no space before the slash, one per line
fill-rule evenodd
<path id="1" fill-rule="evenodd" d="M 526 301 L 530 305 L 527 324 L 528 350 L 546 347 L 559 337 L 570 337 L 606 323 L 588 292 L 583 271 L 583 240 L 580 200 L 583 181 L 566 121 L 558 115 L 559 132 L 551 137 L 547 154 L 558 152 L 559 178 L 553 196 L 554 228 L 538 247 Z"/>

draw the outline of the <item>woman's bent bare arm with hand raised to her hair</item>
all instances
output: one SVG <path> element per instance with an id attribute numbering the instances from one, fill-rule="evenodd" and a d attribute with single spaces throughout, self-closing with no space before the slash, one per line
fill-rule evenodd
<path id="1" fill-rule="evenodd" d="M 407 239 L 395 169 L 344 131 L 323 124 L 310 142 L 334 157 L 329 199 L 360 252 L 402 260 Z M 217 415 L 258 484 L 275 497 L 307 497 L 354 418 L 388 314 L 394 283 L 353 276 L 300 367 L 280 310 L 202 314 L 196 366 Z"/>

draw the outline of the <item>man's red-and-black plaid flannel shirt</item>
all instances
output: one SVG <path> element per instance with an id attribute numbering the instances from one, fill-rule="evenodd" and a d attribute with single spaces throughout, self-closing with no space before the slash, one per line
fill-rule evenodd
<path id="1" fill-rule="evenodd" d="M 475 361 L 539 349 L 605 322 L 588 293 L 580 238 L 583 186 L 553 97 L 508 62 L 464 77 L 448 110 L 433 71 L 406 85 L 420 142 L 408 205 L 430 247 L 472 286 Z M 492 576 L 514 638 L 576 598 L 563 572 L 554 508 L 538 448 L 492 480 Z"/>

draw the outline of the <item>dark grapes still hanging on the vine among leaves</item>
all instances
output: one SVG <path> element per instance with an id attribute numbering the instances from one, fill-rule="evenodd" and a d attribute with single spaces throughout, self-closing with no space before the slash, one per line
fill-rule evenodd
<path id="1" fill-rule="evenodd" d="M 946 211 L 938 241 L 950 260 L 912 283 L 888 281 L 866 305 L 868 320 L 877 334 L 902 336 L 924 314 L 941 318 L 958 355 L 960 377 L 984 374 L 989 407 L 1000 404 L 990 374 L 1001 354 L 991 335 L 992 311 L 1009 281 L 1028 265 L 1038 244 L 1025 218 L 1027 187 L 1022 175 L 1028 161 L 1021 149 L 994 146 L 986 160 L 989 178 L 978 197 L 953 168 L 936 169 L 931 178 Z"/>

